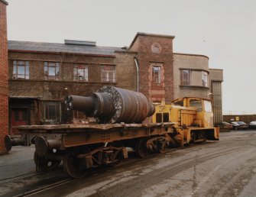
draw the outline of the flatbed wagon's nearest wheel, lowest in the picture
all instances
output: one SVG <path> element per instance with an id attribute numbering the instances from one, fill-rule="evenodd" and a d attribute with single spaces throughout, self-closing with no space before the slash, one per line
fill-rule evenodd
<path id="1" fill-rule="evenodd" d="M 88 173 L 83 160 L 77 157 L 80 153 L 89 153 L 89 148 L 76 147 L 66 150 L 63 157 L 63 170 L 73 178 L 82 178 Z"/>

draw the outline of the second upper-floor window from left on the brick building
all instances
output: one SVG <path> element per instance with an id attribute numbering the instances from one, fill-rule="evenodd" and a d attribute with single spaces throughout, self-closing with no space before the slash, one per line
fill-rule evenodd
<path id="1" fill-rule="evenodd" d="M 58 79 L 60 63 L 44 62 L 44 79 Z"/>

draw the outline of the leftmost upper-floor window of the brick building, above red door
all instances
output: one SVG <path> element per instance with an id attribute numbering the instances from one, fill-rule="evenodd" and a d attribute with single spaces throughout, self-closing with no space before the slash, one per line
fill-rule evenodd
<path id="1" fill-rule="evenodd" d="M 29 79 L 28 61 L 13 61 L 13 79 Z"/>

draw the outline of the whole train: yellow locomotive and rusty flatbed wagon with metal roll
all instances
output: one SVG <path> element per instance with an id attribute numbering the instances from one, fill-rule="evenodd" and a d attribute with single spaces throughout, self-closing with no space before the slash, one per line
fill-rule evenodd
<path id="1" fill-rule="evenodd" d="M 88 96 L 67 95 L 65 110 L 83 111 L 97 124 L 31 125 L 17 127 L 21 137 L 5 137 L 5 147 L 35 145 L 37 171 L 63 169 L 74 178 L 95 167 L 116 166 L 131 147 L 138 157 L 164 153 L 166 148 L 219 140 L 207 99 L 184 98 L 154 107 L 140 92 L 104 86 Z M 153 123 L 142 124 L 147 117 Z"/>

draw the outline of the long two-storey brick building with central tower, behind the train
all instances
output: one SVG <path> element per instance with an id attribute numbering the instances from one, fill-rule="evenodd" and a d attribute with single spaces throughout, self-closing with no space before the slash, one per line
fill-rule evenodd
<path id="1" fill-rule="evenodd" d="M 183 96 L 214 99 L 212 82 L 220 79 L 221 85 L 222 70 L 212 75 L 208 57 L 173 53 L 173 38 L 138 33 L 128 48 L 79 40 L 8 41 L 9 124 L 70 121 L 62 110 L 63 97 L 86 95 L 104 85 L 138 90 L 154 103 Z M 74 111 L 73 118 L 83 115 Z"/>

